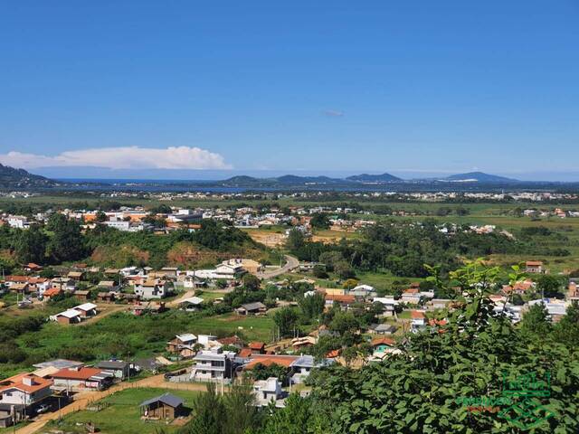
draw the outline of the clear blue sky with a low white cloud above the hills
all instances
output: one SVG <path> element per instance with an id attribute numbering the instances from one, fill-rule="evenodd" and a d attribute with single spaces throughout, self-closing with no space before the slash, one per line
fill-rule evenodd
<path id="1" fill-rule="evenodd" d="M 0 162 L 579 180 L 578 47 L 573 0 L 0 0 Z"/>

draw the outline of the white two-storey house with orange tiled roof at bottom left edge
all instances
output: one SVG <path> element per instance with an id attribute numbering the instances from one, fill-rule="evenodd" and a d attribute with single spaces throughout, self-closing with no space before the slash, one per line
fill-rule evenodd
<path id="1" fill-rule="evenodd" d="M 35 406 L 52 395 L 51 386 L 52 380 L 19 373 L 0 381 L 0 404 Z"/>

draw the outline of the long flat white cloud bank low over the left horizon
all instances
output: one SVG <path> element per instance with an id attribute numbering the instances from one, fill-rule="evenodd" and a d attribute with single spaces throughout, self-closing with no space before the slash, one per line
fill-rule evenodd
<path id="1" fill-rule="evenodd" d="M 39 167 L 107 167 L 109 169 L 228 169 L 223 156 L 190 146 L 150 148 L 139 146 L 100 147 L 65 151 L 57 156 L 10 151 L 0 154 L 0 163 L 24 169 Z"/>

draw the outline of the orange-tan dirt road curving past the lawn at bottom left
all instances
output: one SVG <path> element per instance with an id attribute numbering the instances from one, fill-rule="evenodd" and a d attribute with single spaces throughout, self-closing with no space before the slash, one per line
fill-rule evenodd
<path id="1" fill-rule="evenodd" d="M 115 392 L 123 391 L 132 387 L 157 387 L 161 389 L 173 389 L 180 391 L 200 391 L 205 392 L 207 387 L 205 384 L 197 382 L 166 382 L 164 374 L 160 373 L 152 377 L 147 377 L 137 382 L 120 382 L 106 391 L 102 392 L 81 392 L 74 395 L 74 401 L 69 405 L 62 407 L 60 415 L 64 416 L 73 411 L 84 410 L 92 402 L 99 401 L 112 395 Z M 38 434 L 43 429 L 50 420 L 56 420 L 59 418 L 59 412 L 54 411 L 52 413 L 45 413 L 40 416 L 37 420 L 24 426 L 21 429 L 16 429 L 16 434 Z"/>

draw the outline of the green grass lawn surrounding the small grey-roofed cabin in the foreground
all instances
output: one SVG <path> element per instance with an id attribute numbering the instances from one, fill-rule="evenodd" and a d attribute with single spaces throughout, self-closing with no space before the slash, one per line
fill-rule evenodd
<path id="1" fill-rule="evenodd" d="M 157 434 L 164 429 L 166 434 L 174 433 L 179 428 L 176 425 L 162 421 L 145 421 L 140 419 L 139 404 L 150 398 L 170 392 L 185 401 L 185 407 L 191 408 L 195 394 L 192 391 L 166 391 L 165 389 L 135 388 L 114 393 L 109 397 L 95 402 L 104 404 L 103 410 L 82 410 L 62 418 L 61 422 L 52 421 L 46 428 L 59 429 L 64 432 L 86 433 L 83 426 L 77 423 L 92 422 L 103 434 Z M 95 405 L 93 405 L 95 406 Z"/>

